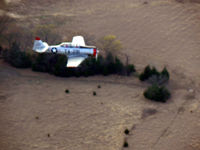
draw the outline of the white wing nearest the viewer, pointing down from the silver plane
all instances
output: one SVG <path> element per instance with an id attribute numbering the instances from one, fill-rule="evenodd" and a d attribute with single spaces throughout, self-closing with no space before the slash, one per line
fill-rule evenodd
<path id="1" fill-rule="evenodd" d="M 88 56 L 87 55 L 73 55 L 68 57 L 66 67 L 78 67 Z"/>

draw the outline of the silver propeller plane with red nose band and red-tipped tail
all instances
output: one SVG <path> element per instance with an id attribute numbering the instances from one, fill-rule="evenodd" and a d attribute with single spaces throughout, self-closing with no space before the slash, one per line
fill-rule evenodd
<path id="1" fill-rule="evenodd" d="M 88 56 L 98 57 L 99 51 L 95 46 L 85 45 L 82 36 L 74 36 L 72 42 L 63 42 L 49 46 L 39 37 L 35 38 L 33 50 L 38 53 L 64 54 L 68 57 L 66 67 L 78 67 Z"/>

